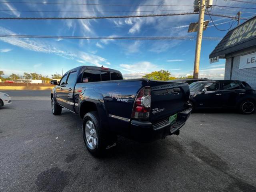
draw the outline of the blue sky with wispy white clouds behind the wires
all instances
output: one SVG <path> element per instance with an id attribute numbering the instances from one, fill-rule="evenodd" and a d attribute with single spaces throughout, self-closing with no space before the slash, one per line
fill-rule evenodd
<path id="1" fill-rule="evenodd" d="M 57 2 L 90 4 L 132 4 L 132 6 L 63 5 L 63 4 L 15 4 L 12 2 Z M 38 12 L 0 11 L 1 17 L 66 17 L 137 15 L 150 10 L 172 10 L 163 13 L 192 12 L 193 0 L 6 0 L 1 10 L 31 10 Z M 214 0 L 222 6 L 250 7 L 230 0 Z M 148 4 L 178 6 L 143 6 Z M 236 15 L 238 9 L 214 8 L 212 13 Z M 42 12 L 42 11 L 61 12 Z M 188 10 L 188 11 L 176 11 Z M 190 11 L 191 10 L 191 11 Z M 233 11 L 232 11 L 233 10 Z M 65 12 L 66 11 L 66 12 Z M 68 12 L 68 11 L 76 11 Z M 79 12 L 80 11 L 80 12 Z M 98 11 L 98 13 L 81 13 Z M 103 13 L 102 11 L 131 11 Z M 136 11 L 136 12 L 134 12 Z M 252 13 L 248 13 L 252 12 Z M 242 17 L 250 18 L 255 10 L 242 9 Z M 154 14 L 160 12 L 154 12 Z M 256 13 L 255 13 L 256 14 Z M 220 29 L 229 28 L 229 18 L 212 16 Z M 210 20 L 205 16 L 204 20 Z M 187 33 L 190 22 L 197 22 L 198 15 L 164 16 L 147 18 L 120 18 L 98 20 L 0 20 L 0 34 L 52 35 L 52 36 L 196 36 Z M 227 31 L 219 31 L 209 23 L 205 37 L 223 37 Z M 236 24 L 235 24 L 236 26 Z M 6 76 L 11 73 L 37 72 L 42 75 L 70 70 L 80 65 L 102 66 L 120 70 L 126 78 L 138 78 L 155 70 L 169 70 L 172 76 L 186 76 L 193 72 L 195 40 L 78 40 L 0 38 L 0 70 Z M 208 56 L 218 41 L 203 40 L 200 60 L 200 77 L 224 78 L 225 60 L 210 64 Z"/>

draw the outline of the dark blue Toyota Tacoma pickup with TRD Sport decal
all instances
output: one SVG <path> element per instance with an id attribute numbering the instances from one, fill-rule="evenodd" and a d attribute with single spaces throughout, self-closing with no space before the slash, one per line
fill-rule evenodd
<path id="1" fill-rule="evenodd" d="M 96 156 L 115 146 L 117 135 L 138 142 L 178 135 L 192 109 L 188 84 L 123 80 L 103 66 L 74 68 L 51 84 L 52 113 L 66 108 L 79 114 L 86 148 Z"/>

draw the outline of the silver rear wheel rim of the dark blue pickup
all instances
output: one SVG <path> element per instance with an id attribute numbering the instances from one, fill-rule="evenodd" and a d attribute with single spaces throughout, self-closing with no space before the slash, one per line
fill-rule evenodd
<path id="1" fill-rule="evenodd" d="M 95 149 L 98 142 L 96 129 L 92 121 L 88 120 L 85 124 L 85 137 L 90 149 Z"/>

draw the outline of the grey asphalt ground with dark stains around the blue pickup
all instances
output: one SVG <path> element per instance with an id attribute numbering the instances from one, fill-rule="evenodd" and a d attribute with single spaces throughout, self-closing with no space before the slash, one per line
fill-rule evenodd
<path id="1" fill-rule="evenodd" d="M 119 137 L 95 158 L 79 116 L 52 115 L 49 91 L 5 92 L 13 102 L 0 109 L 0 191 L 256 191 L 256 114 L 196 112 L 179 136 Z"/>

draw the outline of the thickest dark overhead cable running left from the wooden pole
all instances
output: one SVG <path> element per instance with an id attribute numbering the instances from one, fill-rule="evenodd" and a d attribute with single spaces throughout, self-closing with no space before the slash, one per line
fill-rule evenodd
<path id="1" fill-rule="evenodd" d="M 126 15 L 126 16 L 90 16 L 90 17 L 1 17 L 0 20 L 62 20 L 62 19 L 111 19 L 111 18 L 135 18 L 135 17 L 160 17 L 160 16 L 178 16 L 193 15 L 195 12 L 188 13 L 166 13 L 166 14 L 148 14 L 148 15 Z M 230 16 L 227 16 L 230 17 Z"/>

